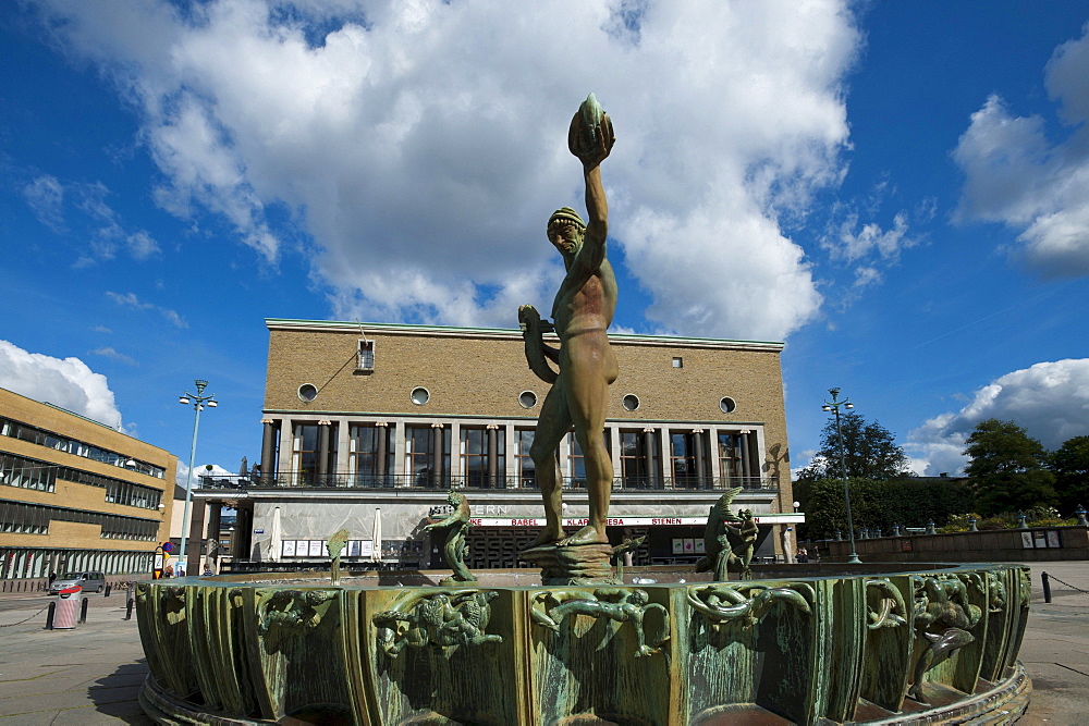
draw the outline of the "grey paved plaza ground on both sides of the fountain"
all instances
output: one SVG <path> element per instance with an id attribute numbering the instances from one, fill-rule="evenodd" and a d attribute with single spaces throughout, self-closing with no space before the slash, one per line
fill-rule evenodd
<path id="1" fill-rule="evenodd" d="M 1043 602 L 1040 573 L 1052 579 Z M 1063 585 L 1063 583 L 1068 585 Z M 1032 611 L 1020 660 L 1032 701 L 1020 724 L 1089 724 L 1089 562 L 1032 569 Z M 87 623 L 45 630 L 45 595 L 0 599 L 0 724 L 150 724 L 136 693 L 147 676 L 124 591 L 90 595 Z"/>

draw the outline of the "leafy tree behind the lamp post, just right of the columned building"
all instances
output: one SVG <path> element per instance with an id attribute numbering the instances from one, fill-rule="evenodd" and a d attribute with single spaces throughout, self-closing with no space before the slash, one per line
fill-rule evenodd
<path id="1" fill-rule="evenodd" d="M 884 481 L 907 473 L 907 455 L 895 442 L 893 434 L 877 421 L 867 422 L 860 414 L 849 411 L 840 418 L 843 430 L 843 459 L 847 476 L 858 479 Z M 798 473 L 807 485 L 821 479 L 843 479 L 840 467 L 840 438 L 835 430 L 835 419 L 830 419 L 820 434 L 820 450 L 809 466 Z M 799 499 L 800 501 L 800 499 Z"/>

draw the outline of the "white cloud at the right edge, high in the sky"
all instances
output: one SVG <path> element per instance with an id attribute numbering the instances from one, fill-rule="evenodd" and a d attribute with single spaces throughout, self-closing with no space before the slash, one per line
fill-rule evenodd
<path id="1" fill-rule="evenodd" d="M 1089 25 L 1059 46 L 1045 85 L 1067 138 L 1045 120 L 1018 116 L 1000 96 L 971 115 L 953 150 L 965 182 L 955 219 L 1001 222 L 1019 232 L 1013 250 L 1043 275 L 1089 273 Z"/>

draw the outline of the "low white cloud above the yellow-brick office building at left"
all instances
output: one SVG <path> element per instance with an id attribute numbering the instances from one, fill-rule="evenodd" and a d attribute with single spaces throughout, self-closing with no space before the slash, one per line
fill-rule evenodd
<path id="1" fill-rule="evenodd" d="M 78 358 L 53 358 L 0 341 L 0 387 L 121 428 L 106 377 Z"/>

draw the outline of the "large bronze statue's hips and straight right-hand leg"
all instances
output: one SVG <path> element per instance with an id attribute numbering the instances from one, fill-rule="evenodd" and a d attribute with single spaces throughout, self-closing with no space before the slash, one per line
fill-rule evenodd
<path id="1" fill-rule="evenodd" d="M 563 347 L 563 385 L 575 439 L 583 450 L 589 494 L 589 524 L 561 544 L 608 544 L 605 524 L 612 495 L 612 458 L 603 431 L 609 406 L 609 384 L 616 380 L 616 358 L 604 331 L 572 335 Z"/>

